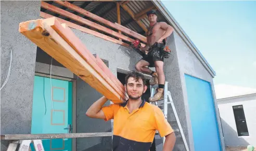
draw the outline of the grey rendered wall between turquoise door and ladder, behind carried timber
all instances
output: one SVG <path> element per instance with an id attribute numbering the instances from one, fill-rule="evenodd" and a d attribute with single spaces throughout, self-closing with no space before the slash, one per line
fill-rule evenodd
<path id="1" fill-rule="evenodd" d="M 134 70 L 139 55 L 131 50 L 106 41 L 104 39 L 72 29 L 86 48 L 93 54 L 97 53 L 101 59 L 108 61 L 111 72 L 117 76 L 117 68 Z M 100 119 L 88 118 L 85 115 L 88 107 L 91 106 L 102 95 L 98 93 L 83 80 L 78 79 L 76 87 L 76 132 L 111 132 L 111 121 L 105 122 Z M 107 102 L 106 105 L 109 105 Z M 105 146 L 106 145 L 106 146 Z M 76 149 L 80 150 L 112 150 L 112 138 L 79 138 L 76 139 Z"/>

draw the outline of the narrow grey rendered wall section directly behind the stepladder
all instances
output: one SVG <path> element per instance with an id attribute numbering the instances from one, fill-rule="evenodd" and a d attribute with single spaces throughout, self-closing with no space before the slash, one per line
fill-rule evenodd
<path id="1" fill-rule="evenodd" d="M 171 49 L 170 58 L 164 59 L 164 75 L 165 80 L 168 81 L 168 90 L 171 92 L 172 99 L 178 114 L 178 117 L 181 121 L 181 125 L 185 134 L 187 134 L 187 124 L 186 124 L 186 112 L 184 107 L 184 98 L 183 98 L 183 89 L 181 84 L 181 71 L 180 65 L 178 64 L 177 50 L 174 39 L 174 34 L 171 34 L 167 38 L 168 45 Z M 168 108 L 168 121 L 172 128 L 175 131 L 176 142 L 174 146 L 174 151 L 183 150 L 185 148 L 182 136 L 178 130 L 177 122 L 175 116 L 172 113 L 171 105 Z M 156 136 L 156 146 L 157 150 L 162 150 L 163 144 L 159 136 Z"/>

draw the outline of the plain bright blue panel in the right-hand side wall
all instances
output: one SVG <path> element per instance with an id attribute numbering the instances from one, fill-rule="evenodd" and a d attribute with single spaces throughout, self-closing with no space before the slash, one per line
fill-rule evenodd
<path id="1" fill-rule="evenodd" d="M 210 83 L 189 75 L 185 80 L 195 151 L 222 150 Z"/>

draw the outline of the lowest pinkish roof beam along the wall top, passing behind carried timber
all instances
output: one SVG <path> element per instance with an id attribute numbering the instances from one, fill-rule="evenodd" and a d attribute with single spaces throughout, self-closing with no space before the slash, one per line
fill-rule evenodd
<path id="1" fill-rule="evenodd" d="M 52 15 L 49 15 L 48 13 L 45 13 L 45 12 L 40 12 L 40 17 L 42 18 L 51 18 L 51 17 L 54 17 Z M 90 30 L 90 29 L 87 29 L 87 28 L 84 28 L 83 26 L 80 26 L 80 25 L 77 25 L 77 24 L 74 24 L 72 22 L 69 22 L 69 21 L 66 21 L 66 20 L 63 20 L 61 18 L 57 18 L 58 21 L 60 21 L 61 23 L 65 23 L 67 24 L 70 28 L 73 28 L 73 29 L 76 29 L 76 30 L 80 30 L 84 33 L 87 33 L 87 34 L 91 34 L 91 35 L 94 35 L 96 37 L 99 37 L 99 38 L 103 38 L 105 40 L 108 40 L 112 43 L 116 43 L 116 44 L 119 44 L 119 45 L 122 45 L 124 47 L 127 47 L 129 48 L 129 44 L 126 44 L 124 42 L 120 42 L 118 39 L 114 39 L 112 37 L 109 37 L 107 35 L 104 35 L 104 34 L 101 34 L 101 33 L 98 33 L 96 31 L 93 31 L 93 30 Z"/>

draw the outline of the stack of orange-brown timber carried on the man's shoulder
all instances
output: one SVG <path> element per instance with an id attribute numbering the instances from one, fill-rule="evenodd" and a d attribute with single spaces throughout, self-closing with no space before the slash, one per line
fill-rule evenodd
<path id="1" fill-rule="evenodd" d="M 106 64 L 55 17 L 21 22 L 19 32 L 113 103 L 127 99 L 124 86 Z"/>

